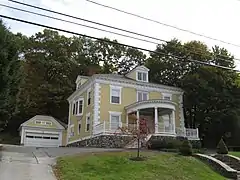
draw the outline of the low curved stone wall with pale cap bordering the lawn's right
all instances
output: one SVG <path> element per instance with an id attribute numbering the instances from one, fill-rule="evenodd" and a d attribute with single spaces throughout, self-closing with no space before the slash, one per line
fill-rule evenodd
<path id="1" fill-rule="evenodd" d="M 195 154 L 194 156 L 211 166 L 222 176 L 230 179 L 237 179 L 237 171 L 219 161 L 218 159 L 205 154 Z"/>

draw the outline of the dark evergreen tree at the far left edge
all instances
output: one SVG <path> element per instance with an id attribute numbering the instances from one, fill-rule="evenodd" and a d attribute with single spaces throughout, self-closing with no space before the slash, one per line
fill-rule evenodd
<path id="1" fill-rule="evenodd" d="M 21 42 L 0 20 L 0 131 L 6 129 L 15 110 L 16 93 L 21 79 Z"/>

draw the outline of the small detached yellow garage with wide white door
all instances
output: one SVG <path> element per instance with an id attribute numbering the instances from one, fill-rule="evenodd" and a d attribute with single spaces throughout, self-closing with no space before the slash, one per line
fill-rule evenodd
<path id="1" fill-rule="evenodd" d="M 20 136 L 24 146 L 65 146 L 66 125 L 51 116 L 37 115 L 21 124 Z"/>

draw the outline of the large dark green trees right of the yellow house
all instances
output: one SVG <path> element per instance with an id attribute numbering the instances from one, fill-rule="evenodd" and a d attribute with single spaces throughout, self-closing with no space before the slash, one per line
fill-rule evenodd
<path id="1" fill-rule="evenodd" d="M 237 142 L 240 128 L 239 76 L 231 70 L 202 66 L 189 59 L 234 67 L 233 56 L 224 48 L 211 50 L 198 41 L 181 43 L 174 39 L 157 46 L 147 59 L 151 81 L 184 90 L 186 127 L 199 128 L 204 145 L 216 144 L 222 134 L 232 132 Z M 184 58 L 179 58 L 179 57 Z M 236 128 L 237 127 L 237 128 Z"/>

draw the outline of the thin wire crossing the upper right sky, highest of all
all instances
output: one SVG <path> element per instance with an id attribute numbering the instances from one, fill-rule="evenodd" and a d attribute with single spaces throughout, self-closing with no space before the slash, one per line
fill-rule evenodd
<path id="1" fill-rule="evenodd" d="M 10 0 L 10 1 L 12 1 L 12 0 Z M 193 32 L 193 31 L 190 31 L 190 30 L 187 30 L 187 29 L 183 29 L 183 28 L 180 28 L 180 27 L 177 27 L 177 26 L 173 26 L 173 25 L 170 25 L 170 24 L 166 24 L 166 23 L 163 23 L 163 22 L 154 20 L 154 19 L 150 19 L 150 18 L 141 16 L 141 15 L 138 15 L 138 14 L 130 13 L 130 12 L 127 12 L 127 11 L 124 11 L 124 10 L 121 10 L 121 9 L 118 9 L 118 8 L 115 8 L 115 7 L 112 7 L 112 6 L 108 6 L 108 5 L 105 5 L 105 4 L 101 4 L 101 3 L 98 3 L 98 2 L 95 2 L 95 1 L 92 1 L 92 0 L 85 0 L 85 1 L 90 2 L 90 3 L 92 3 L 92 4 L 95 4 L 95 5 L 98 5 L 98 6 L 102 6 L 102 7 L 108 8 L 108 9 L 112 9 L 112 10 L 121 12 L 121 13 L 124 13 L 124 14 L 128 14 L 128 15 L 131 15 L 131 16 L 135 16 L 135 17 L 138 17 L 138 18 L 147 20 L 147 21 L 151 21 L 151 22 L 154 22 L 154 23 L 157 23 L 157 24 L 161 24 L 161 25 L 163 25 L 163 26 L 167 26 L 167 27 L 170 27 L 170 28 L 174 28 L 174 29 L 177 29 L 177 30 L 179 30 L 179 31 L 184 31 L 184 32 L 187 32 L 187 33 L 190 33 L 190 34 L 194 34 L 194 35 L 201 36 L 201 37 L 204 37 L 204 38 L 207 38 L 207 39 L 211 39 L 211 40 L 214 40 L 214 41 L 218 41 L 218 42 L 221 42 L 221 43 L 224 43 L 224 44 L 228 44 L 228 45 L 240 47 L 240 45 L 238 45 L 238 44 L 230 43 L 230 42 L 223 41 L 223 40 L 220 40 L 220 39 L 216 39 L 216 38 L 213 38 L 213 37 L 210 37 L 210 36 L 206 36 L 206 35 L 204 35 L 204 34 L 196 33 L 196 32 Z"/>

